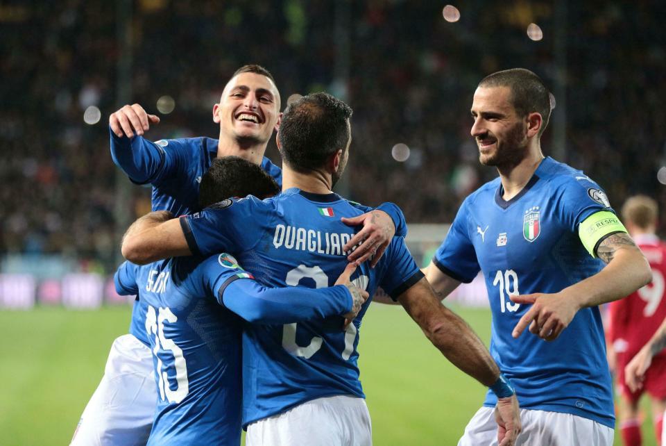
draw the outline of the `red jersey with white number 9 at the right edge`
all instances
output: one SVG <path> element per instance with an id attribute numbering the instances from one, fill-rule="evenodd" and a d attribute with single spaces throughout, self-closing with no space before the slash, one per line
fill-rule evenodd
<path id="1" fill-rule="evenodd" d="M 652 269 L 652 283 L 608 308 L 608 335 L 615 352 L 632 358 L 654 335 L 666 318 L 666 243 L 657 236 L 640 235 L 633 240 L 640 247 Z"/>

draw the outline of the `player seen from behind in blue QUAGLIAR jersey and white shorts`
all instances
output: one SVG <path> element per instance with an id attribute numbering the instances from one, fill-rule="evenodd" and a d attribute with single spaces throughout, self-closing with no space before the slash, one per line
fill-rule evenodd
<path id="1" fill-rule="evenodd" d="M 227 201 L 179 220 L 137 220 L 123 255 L 147 263 L 173 255 L 206 255 L 225 247 L 267 286 L 330 286 L 347 264 L 354 235 L 339 217 L 367 210 L 331 191 L 347 163 L 351 109 L 328 94 L 309 94 L 282 117 L 282 194 Z M 513 390 L 469 327 L 443 306 L 409 254 L 393 238 L 376 266 L 362 263 L 355 283 L 381 286 L 441 352 L 497 395 L 497 436 L 513 445 L 520 431 Z M 253 445 L 370 445 L 370 417 L 357 365 L 358 317 L 299 324 L 250 324 L 243 335 L 246 442 Z"/>

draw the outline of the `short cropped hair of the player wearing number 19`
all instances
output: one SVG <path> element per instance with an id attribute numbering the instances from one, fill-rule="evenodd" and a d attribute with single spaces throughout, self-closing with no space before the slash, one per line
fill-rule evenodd
<path id="1" fill-rule="evenodd" d="M 541 115 L 543 123 L 539 129 L 539 136 L 543 135 L 555 106 L 552 94 L 539 76 L 529 69 L 505 69 L 486 76 L 479 82 L 479 87 L 509 87 L 513 108 L 519 116 L 526 117 L 533 112 Z"/>

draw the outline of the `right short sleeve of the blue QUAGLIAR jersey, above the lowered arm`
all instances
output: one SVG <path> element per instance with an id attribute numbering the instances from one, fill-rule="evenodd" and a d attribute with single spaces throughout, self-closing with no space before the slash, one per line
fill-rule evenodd
<path id="1" fill-rule="evenodd" d="M 386 263 L 386 271 L 379 286 L 393 300 L 423 278 L 402 237 L 393 237 L 382 261 Z"/>

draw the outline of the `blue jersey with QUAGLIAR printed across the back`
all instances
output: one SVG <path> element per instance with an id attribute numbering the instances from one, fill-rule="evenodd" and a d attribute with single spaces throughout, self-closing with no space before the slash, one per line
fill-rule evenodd
<path id="1" fill-rule="evenodd" d="M 369 208 L 336 194 L 296 188 L 271 199 L 225 200 L 181 217 L 193 253 L 232 252 L 266 286 L 332 285 L 347 264 L 343 245 L 354 228 L 340 221 Z M 422 278 L 402 237 L 394 237 L 377 267 L 364 263 L 356 283 L 373 295 L 381 286 L 398 297 Z M 357 365 L 359 329 L 370 300 L 346 331 L 341 317 L 298 324 L 246 324 L 243 334 L 243 422 L 330 395 L 364 397 Z"/>

